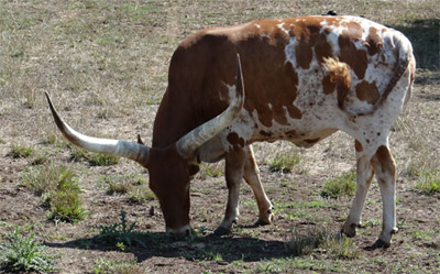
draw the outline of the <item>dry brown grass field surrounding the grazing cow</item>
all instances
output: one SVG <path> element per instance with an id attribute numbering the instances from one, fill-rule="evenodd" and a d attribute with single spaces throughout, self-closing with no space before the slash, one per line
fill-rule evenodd
<path id="1" fill-rule="evenodd" d="M 175 240 L 164 233 L 147 171 L 128 160 L 92 164 L 67 144 L 50 114 L 44 91 L 77 130 L 133 141 L 141 133 L 150 144 L 170 56 L 186 36 L 210 26 L 329 10 L 400 30 L 415 48 L 413 97 L 391 136 L 399 232 L 389 249 L 364 249 L 382 223 L 375 182 L 358 235 L 334 237 L 353 195 L 320 194 L 326 183 L 355 166 L 353 140 L 344 133 L 309 150 L 287 142 L 255 144 L 275 222 L 252 226 L 256 204 L 243 184 L 240 220 L 222 238 L 212 230 L 227 201 L 223 164 L 202 165 L 191 183 L 194 235 Z M 0 244 L 16 227 L 23 235 L 35 234 L 54 256 L 55 273 L 439 273 L 439 42 L 437 0 L 0 0 Z M 290 172 L 273 171 L 280 154 L 295 162 Z M 56 196 L 48 185 L 59 166 L 74 176 L 84 209 L 78 221 L 51 218 Z M 119 223 L 121 210 L 135 227 L 102 237 L 97 227 Z"/>

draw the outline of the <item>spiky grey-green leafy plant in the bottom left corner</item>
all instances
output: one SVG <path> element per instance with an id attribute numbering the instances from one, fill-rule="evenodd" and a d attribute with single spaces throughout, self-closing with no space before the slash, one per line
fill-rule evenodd
<path id="1" fill-rule="evenodd" d="M 54 256 L 35 241 L 35 234 L 24 237 L 19 227 L 0 243 L 0 270 L 10 272 L 50 273 L 55 271 Z"/>

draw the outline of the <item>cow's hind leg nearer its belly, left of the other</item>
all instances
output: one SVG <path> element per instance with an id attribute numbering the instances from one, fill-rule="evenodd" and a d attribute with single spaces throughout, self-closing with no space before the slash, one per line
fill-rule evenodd
<path id="1" fill-rule="evenodd" d="M 356 228 L 361 226 L 362 209 L 365 204 L 366 193 L 369 191 L 374 175 L 370 157 L 365 154 L 362 144 L 356 140 L 354 146 L 356 150 L 358 187 L 349 217 L 342 227 L 342 232 L 348 237 L 354 237 L 356 234 Z"/>

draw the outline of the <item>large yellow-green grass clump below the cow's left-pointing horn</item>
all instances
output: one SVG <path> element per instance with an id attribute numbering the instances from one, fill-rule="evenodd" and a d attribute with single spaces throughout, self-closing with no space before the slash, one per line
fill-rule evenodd
<path id="1" fill-rule="evenodd" d="M 67 166 L 35 166 L 22 174 L 21 184 L 42 196 L 50 219 L 76 222 L 86 216 L 75 173 Z"/>

